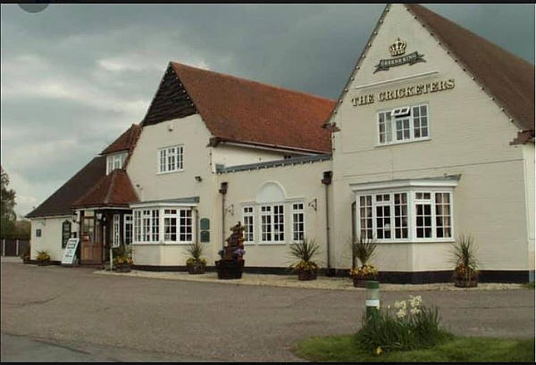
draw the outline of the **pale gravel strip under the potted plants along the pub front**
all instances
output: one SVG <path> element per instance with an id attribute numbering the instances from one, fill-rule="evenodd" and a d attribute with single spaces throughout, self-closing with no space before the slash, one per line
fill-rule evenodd
<path id="1" fill-rule="evenodd" d="M 348 290 L 348 291 L 365 291 L 361 287 L 354 287 L 350 278 L 328 278 L 318 277 L 316 280 L 300 281 L 297 276 L 288 275 L 264 275 L 264 274 L 242 274 L 240 279 L 220 280 L 216 272 L 207 272 L 201 275 L 190 275 L 188 272 L 154 272 L 131 270 L 130 272 L 116 272 L 108 270 L 97 270 L 94 272 L 99 275 L 115 275 L 133 278 L 160 278 L 167 280 L 184 280 L 218 283 L 222 285 L 245 285 L 245 286 L 283 286 L 299 287 L 306 289 L 324 289 L 324 290 Z M 463 288 L 456 287 L 452 283 L 437 284 L 381 284 L 382 291 L 486 291 L 486 290 L 511 290 L 524 289 L 521 284 L 503 284 L 503 283 L 479 283 L 477 287 Z"/>

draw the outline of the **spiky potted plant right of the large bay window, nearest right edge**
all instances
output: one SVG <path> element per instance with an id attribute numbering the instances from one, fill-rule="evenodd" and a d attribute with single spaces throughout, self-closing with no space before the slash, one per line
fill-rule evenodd
<path id="1" fill-rule="evenodd" d="M 451 255 L 455 264 L 454 285 L 458 287 L 478 286 L 477 247 L 472 236 L 460 235 L 452 245 Z"/>

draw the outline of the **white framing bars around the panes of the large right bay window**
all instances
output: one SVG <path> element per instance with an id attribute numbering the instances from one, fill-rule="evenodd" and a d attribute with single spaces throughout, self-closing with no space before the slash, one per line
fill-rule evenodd
<path id="1" fill-rule="evenodd" d="M 420 201 L 415 199 L 415 193 L 425 192 L 431 194 L 431 237 L 417 237 L 417 226 L 416 226 L 416 203 Z M 394 195 L 399 193 L 406 193 L 406 203 L 407 203 L 407 238 L 396 238 L 395 232 L 395 199 Z M 437 224 L 436 224 L 436 194 L 448 194 L 449 196 L 449 219 L 450 219 L 450 236 L 449 237 L 438 237 L 437 236 Z M 375 195 L 390 195 L 390 225 L 391 225 L 391 237 L 390 238 L 378 238 L 377 237 L 377 215 L 376 207 L 380 206 L 376 204 Z M 385 188 L 385 189 L 371 189 L 371 190 L 360 190 L 356 192 L 356 232 L 357 235 L 361 234 L 361 215 L 360 215 L 360 199 L 366 196 L 373 195 L 372 199 L 372 212 L 373 212 L 373 237 L 378 243 L 433 243 L 433 242 L 455 242 L 455 207 L 454 207 L 454 188 L 453 187 L 396 187 L 396 188 Z"/>

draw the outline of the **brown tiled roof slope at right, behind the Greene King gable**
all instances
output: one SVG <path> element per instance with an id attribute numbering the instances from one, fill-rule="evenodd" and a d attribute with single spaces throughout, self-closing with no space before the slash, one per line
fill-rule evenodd
<path id="1" fill-rule="evenodd" d="M 406 4 L 520 129 L 534 130 L 534 65 L 419 4 Z"/>

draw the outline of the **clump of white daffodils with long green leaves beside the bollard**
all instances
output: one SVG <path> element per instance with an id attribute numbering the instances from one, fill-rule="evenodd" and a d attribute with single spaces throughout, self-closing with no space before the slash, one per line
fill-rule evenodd
<path id="1" fill-rule="evenodd" d="M 364 316 L 363 327 L 356 333 L 356 344 L 364 351 L 380 354 L 389 351 L 409 351 L 430 348 L 452 337 L 440 328 L 437 307 L 425 307 L 421 296 L 395 303 Z"/>

